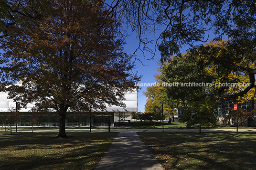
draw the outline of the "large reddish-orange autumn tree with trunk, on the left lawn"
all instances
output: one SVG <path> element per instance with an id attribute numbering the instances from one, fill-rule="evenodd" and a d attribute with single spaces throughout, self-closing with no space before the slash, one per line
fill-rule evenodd
<path id="1" fill-rule="evenodd" d="M 0 10 L 2 90 L 23 107 L 58 113 L 58 137 L 67 137 L 67 114 L 125 107 L 124 93 L 139 78 L 102 1 L 1 0 Z"/>

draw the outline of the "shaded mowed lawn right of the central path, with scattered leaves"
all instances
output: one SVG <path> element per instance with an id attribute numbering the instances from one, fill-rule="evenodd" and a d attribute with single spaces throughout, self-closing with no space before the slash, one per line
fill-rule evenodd
<path id="1" fill-rule="evenodd" d="M 165 170 L 256 170 L 256 132 L 139 132 Z"/>

